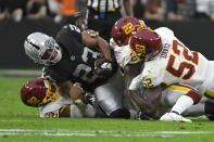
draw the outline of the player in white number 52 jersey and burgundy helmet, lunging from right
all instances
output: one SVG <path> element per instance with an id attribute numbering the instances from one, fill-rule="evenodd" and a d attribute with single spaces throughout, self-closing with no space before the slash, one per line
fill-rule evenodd
<path id="1" fill-rule="evenodd" d="M 137 60 L 144 61 L 141 74 L 134 78 L 129 86 L 130 90 L 136 90 L 141 85 L 144 88 L 158 88 L 158 90 L 174 83 L 185 83 L 194 88 L 186 95 L 181 95 L 171 112 L 161 117 L 161 120 L 177 120 L 184 111 L 199 102 L 202 94 L 214 99 L 212 86 L 214 74 L 211 72 L 214 63 L 201 53 L 190 51 L 171 29 L 141 28 L 130 37 L 129 49 Z M 213 106 L 206 107 L 209 102 L 205 104 L 205 112 L 213 115 Z"/>

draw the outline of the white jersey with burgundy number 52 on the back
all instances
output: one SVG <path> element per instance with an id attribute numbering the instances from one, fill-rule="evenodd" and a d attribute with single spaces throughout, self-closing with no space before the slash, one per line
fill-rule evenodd
<path id="1" fill-rule="evenodd" d="M 171 29 L 161 27 L 154 31 L 162 39 L 163 50 L 154 60 L 144 63 L 142 73 L 134 78 L 129 89 L 135 90 L 140 83 L 146 88 L 162 83 L 185 83 L 196 88 L 201 94 L 205 91 L 214 92 L 214 87 L 211 86 L 214 82 L 214 62 L 199 52 L 190 51 Z"/>

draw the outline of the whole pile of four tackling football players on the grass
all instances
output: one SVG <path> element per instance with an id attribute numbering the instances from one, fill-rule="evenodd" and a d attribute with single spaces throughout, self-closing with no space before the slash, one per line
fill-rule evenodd
<path id="1" fill-rule="evenodd" d="M 171 29 L 152 30 L 135 17 L 118 20 L 111 36 L 109 46 L 75 25 L 55 39 L 30 34 L 25 52 L 43 65 L 42 78 L 23 86 L 22 101 L 39 107 L 41 117 L 214 119 L 213 61 L 190 51 Z"/>

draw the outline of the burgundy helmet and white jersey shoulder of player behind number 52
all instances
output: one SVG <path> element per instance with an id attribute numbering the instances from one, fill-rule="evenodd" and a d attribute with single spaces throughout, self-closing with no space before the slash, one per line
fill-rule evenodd
<path id="1" fill-rule="evenodd" d="M 127 63 L 139 62 L 129 50 L 128 40 L 138 29 L 144 27 L 147 27 L 147 25 L 143 21 L 130 16 L 122 17 L 113 25 L 110 46 L 114 50 L 116 61 L 122 68 L 124 68 Z"/>

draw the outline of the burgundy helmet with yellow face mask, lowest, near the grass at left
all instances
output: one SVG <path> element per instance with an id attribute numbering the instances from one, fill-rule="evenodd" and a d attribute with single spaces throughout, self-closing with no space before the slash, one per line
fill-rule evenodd
<path id="1" fill-rule="evenodd" d="M 55 102 L 59 96 L 58 86 L 45 78 L 29 80 L 21 89 L 21 99 L 24 104 L 29 106 L 38 107 L 49 102 Z"/>

